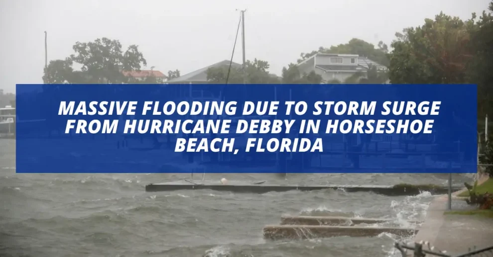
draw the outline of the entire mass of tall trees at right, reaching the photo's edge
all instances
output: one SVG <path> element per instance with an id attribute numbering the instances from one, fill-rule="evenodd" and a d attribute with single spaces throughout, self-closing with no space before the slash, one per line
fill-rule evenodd
<path id="1" fill-rule="evenodd" d="M 489 6 L 493 12 L 493 1 Z M 477 84 L 478 115 L 493 116 L 493 17 L 440 13 L 396 34 L 389 54 L 393 84 Z"/>

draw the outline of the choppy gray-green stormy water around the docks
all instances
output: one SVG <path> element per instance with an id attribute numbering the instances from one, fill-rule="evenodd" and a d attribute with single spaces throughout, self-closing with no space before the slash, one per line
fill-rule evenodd
<path id="1" fill-rule="evenodd" d="M 15 141 L 0 140 L 0 256 L 3 257 L 391 257 L 398 238 L 268 241 L 262 227 L 283 214 L 422 220 L 433 196 L 344 190 L 231 193 L 145 192 L 189 174 L 17 174 Z M 163 157 L 176 158 L 172 155 Z M 183 167 L 183 169 L 187 169 Z M 219 172 L 219 171 L 218 171 Z M 283 184 L 446 184 L 447 174 L 207 174 L 206 179 Z M 453 176 L 454 184 L 471 179 Z"/>

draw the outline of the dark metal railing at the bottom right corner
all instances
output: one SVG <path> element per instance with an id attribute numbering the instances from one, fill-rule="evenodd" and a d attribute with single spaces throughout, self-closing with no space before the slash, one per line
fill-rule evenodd
<path id="1" fill-rule="evenodd" d="M 394 247 L 399 250 L 402 257 L 493 257 L 493 246 L 477 250 L 476 247 L 469 249 L 465 254 L 449 255 L 447 251 L 440 251 L 431 246 L 429 242 L 409 244 L 395 243 Z"/>

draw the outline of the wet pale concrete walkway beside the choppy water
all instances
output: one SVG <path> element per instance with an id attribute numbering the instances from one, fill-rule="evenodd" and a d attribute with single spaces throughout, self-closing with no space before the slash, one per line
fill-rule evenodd
<path id="1" fill-rule="evenodd" d="M 483 181 L 480 181 L 483 182 Z M 455 192 L 454 195 L 461 191 Z M 464 200 L 453 200 L 452 210 L 471 209 Z M 447 196 L 439 196 L 428 207 L 426 220 L 414 241 L 428 241 L 449 255 L 464 254 L 469 248 L 493 246 L 493 219 L 477 215 L 456 215 L 447 210 Z"/>

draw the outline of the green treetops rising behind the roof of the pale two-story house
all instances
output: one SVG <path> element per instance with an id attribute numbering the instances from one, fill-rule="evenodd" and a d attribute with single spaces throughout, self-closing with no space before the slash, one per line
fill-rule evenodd
<path id="1" fill-rule="evenodd" d="M 301 53 L 301 59 L 298 60 L 298 63 L 315 54 L 357 54 L 383 66 L 388 66 L 387 53 L 388 47 L 382 41 L 378 42 L 377 48 L 375 48 L 373 44 L 358 38 L 353 38 L 346 44 L 331 46 L 329 48 L 320 47 L 318 50 L 314 50 L 310 53 Z"/>

